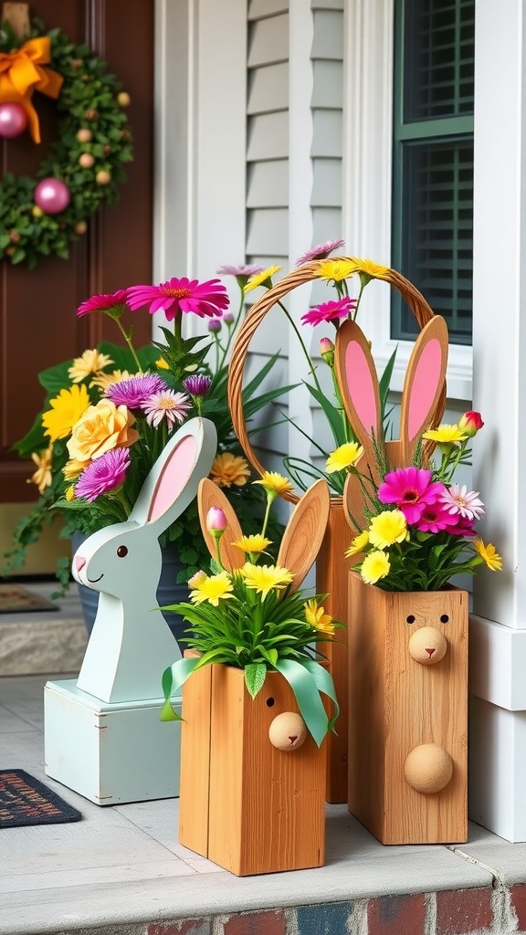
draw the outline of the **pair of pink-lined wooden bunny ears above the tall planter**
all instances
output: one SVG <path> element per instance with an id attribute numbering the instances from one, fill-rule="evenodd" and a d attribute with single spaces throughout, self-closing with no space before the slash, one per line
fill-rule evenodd
<path id="1" fill-rule="evenodd" d="M 363 445 L 357 468 L 362 474 L 371 471 L 378 482 L 373 439 L 384 439 L 379 382 L 369 342 L 356 322 L 345 322 L 340 328 L 334 363 L 347 418 Z M 435 315 L 416 338 L 409 359 L 403 382 L 400 438 L 385 442 L 391 468 L 412 464 L 420 434 L 440 421 L 446 397 L 446 365 L 447 326 L 444 318 Z M 363 494 L 356 475 L 347 478 L 344 502 L 361 523 Z"/>

